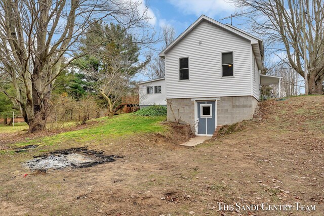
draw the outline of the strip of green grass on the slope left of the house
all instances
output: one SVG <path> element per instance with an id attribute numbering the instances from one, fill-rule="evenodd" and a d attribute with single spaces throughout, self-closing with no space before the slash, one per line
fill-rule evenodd
<path id="1" fill-rule="evenodd" d="M 42 145 L 55 145 L 61 143 L 98 143 L 106 139 L 118 138 L 131 134 L 164 133 L 167 126 L 160 124 L 166 116 L 144 117 L 131 114 L 122 114 L 113 118 L 100 118 L 95 126 L 70 131 L 54 136 L 33 139 L 14 144 L 15 146 L 41 143 Z"/>

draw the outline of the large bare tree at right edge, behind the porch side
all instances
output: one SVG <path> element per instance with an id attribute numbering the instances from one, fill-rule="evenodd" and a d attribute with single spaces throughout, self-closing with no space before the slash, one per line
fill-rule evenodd
<path id="1" fill-rule="evenodd" d="M 321 94 L 324 80 L 323 0 L 233 0 L 243 8 L 251 30 L 263 36 L 272 53 L 284 52 L 287 63 L 305 77 L 308 93 Z"/>

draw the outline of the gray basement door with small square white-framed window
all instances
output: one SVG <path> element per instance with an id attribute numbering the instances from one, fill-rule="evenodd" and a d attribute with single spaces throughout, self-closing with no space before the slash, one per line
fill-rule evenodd
<path id="1" fill-rule="evenodd" d="M 215 132 L 215 101 L 197 102 L 198 135 L 212 135 Z"/>

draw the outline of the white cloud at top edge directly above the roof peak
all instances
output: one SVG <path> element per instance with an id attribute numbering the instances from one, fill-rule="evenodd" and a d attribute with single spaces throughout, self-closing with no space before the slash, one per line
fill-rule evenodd
<path id="1" fill-rule="evenodd" d="M 185 14 L 196 16 L 206 15 L 213 17 L 223 12 L 234 12 L 234 6 L 224 0 L 170 0 L 170 3 L 183 11 Z"/>

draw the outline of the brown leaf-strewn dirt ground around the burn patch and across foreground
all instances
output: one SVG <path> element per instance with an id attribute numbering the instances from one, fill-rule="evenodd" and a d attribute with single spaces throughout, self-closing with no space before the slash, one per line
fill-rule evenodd
<path id="1" fill-rule="evenodd" d="M 180 146 L 181 137 L 107 140 L 90 148 L 123 158 L 92 167 L 31 172 L 22 163 L 37 149 L 0 155 L 0 214 L 324 215 L 324 97 L 262 107 L 195 148 Z M 219 202 L 294 206 L 227 211 Z"/>

